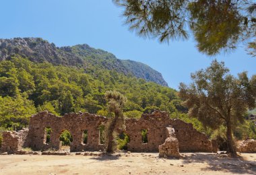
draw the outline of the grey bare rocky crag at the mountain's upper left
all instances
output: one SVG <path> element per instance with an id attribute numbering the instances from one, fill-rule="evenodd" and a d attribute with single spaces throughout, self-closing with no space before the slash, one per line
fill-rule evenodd
<path id="1" fill-rule="evenodd" d="M 11 55 L 22 55 L 30 61 L 42 63 L 44 61 L 53 65 L 83 65 L 84 60 L 63 52 L 42 38 L 13 38 L 0 39 L 0 61 L 8 59 Z"/>

